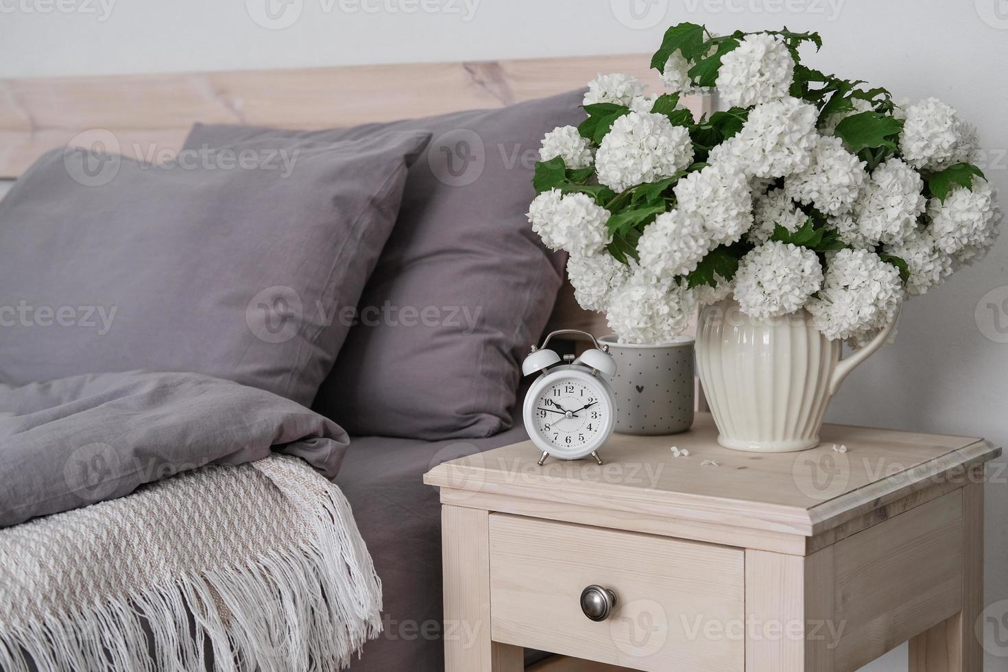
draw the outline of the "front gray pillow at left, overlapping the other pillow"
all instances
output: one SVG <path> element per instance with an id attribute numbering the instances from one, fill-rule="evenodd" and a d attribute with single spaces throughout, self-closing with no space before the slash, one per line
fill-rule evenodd
<path id="1" fill-rule="evenodd" d="M 44 154 L 0 201 L 0 383 L 186 371 L 309 405 L 429 137 Z"/>

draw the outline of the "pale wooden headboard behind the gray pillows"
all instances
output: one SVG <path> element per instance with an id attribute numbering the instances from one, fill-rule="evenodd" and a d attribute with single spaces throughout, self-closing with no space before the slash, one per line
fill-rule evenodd
<path id="1" fill-rule="evenodd" d="M 629 73 L 660 91 L 645 54 L 455 63 L 352 65 L 94 78 L 0 79 L 0 178 L 20 175 L 44 151 L 90 145 L 108 131 L 138 159 L 181 148 L 198 121 L 333 128 L 494 108 L 585 86 L 599 73 Z M 684 101 L 695 113 L 708 101 Z M 82 135 L 83 134 L 83 135 Z M 78 136 L 80 138 L 78 139 Z M 607 332 L 564 283 L 551 326 Z"/>

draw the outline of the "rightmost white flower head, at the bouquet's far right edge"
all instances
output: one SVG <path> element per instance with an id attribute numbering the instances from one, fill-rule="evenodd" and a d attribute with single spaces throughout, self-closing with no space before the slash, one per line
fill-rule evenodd
<path id="1" fill-rule="evenodd" d="M 973 188 L 956 184 L 944 201 L 931 198 L 927 204 L 928 231 L 946 254 L 958 254 L 967 248 L 988 246 L 1001 221 L 994 187 L 980 176 L 973 178 Z"/>

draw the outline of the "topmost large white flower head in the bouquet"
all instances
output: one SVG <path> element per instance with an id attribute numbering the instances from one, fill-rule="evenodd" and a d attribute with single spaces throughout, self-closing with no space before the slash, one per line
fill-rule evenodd
<path id="1" fill-rule="evenodd" d="M 787 96 L 794 58 L 776 35 L 746 35 L 721 58 L 716 86 L 729 105 L 743 108 Z"/>

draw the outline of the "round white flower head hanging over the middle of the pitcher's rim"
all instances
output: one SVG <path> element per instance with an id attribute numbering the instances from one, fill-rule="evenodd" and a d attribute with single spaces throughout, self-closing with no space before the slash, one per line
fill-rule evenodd
<path id="1" fill-rule="evenodd" d="M 814 252 L 769 241 L 750 250 L 735 273 L 735 300 L 752 317 L 794 312 L 823 286 L 823 266 Z"/>

